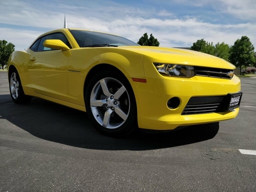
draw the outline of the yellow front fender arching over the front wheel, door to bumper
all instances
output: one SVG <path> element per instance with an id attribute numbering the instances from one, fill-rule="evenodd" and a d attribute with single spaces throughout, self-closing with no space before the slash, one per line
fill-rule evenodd
<path id="1" fill-rule="evenodd" d="M 86 76 L 90 71 L 97 72 L 92 71 L 92 68 L 101 64 L 118 68 L 127 77 L 133 89 L 136 89 L 136 84 L 132 78 L 145 79 L 141 54 L 108 47 L 73 49 L 68 61 L 68 89 L 72 96 L 83 100 L 83 90 L 77 87 L 84 87 Z"/>

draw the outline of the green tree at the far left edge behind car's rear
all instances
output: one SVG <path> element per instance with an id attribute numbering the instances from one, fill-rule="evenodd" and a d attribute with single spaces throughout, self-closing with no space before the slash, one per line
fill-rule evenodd
<path id="1" fill-rule="evenodd" d="M 2 68 L 7 65 L 8 60 L 12 52 L 14 51 L 15 45 L 8 43 L 6 40 L 0 40 L 0 64 Z"/>

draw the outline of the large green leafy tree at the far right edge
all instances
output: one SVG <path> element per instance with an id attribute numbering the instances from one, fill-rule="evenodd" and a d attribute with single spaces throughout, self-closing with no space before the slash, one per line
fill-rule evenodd
<path id="1" fill-rule="evenodd" d="M 248 67 L 255 64 L 254 47 L 250 38 L 242 36 L 236 40 L 230 48 L 229 61 L 240 68 L 240 74 L 243 65 Z"/>

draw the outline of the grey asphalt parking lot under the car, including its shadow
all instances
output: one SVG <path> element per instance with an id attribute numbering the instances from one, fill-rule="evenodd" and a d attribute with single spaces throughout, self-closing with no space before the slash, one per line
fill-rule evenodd
<path id="1" fill-rule="evenodd" d="M 116 139 L 81 111 L 14 104 L 0 72 L 0 191 L 256 191 L 256 79 L 241 82 L 233 120 Z"/>

